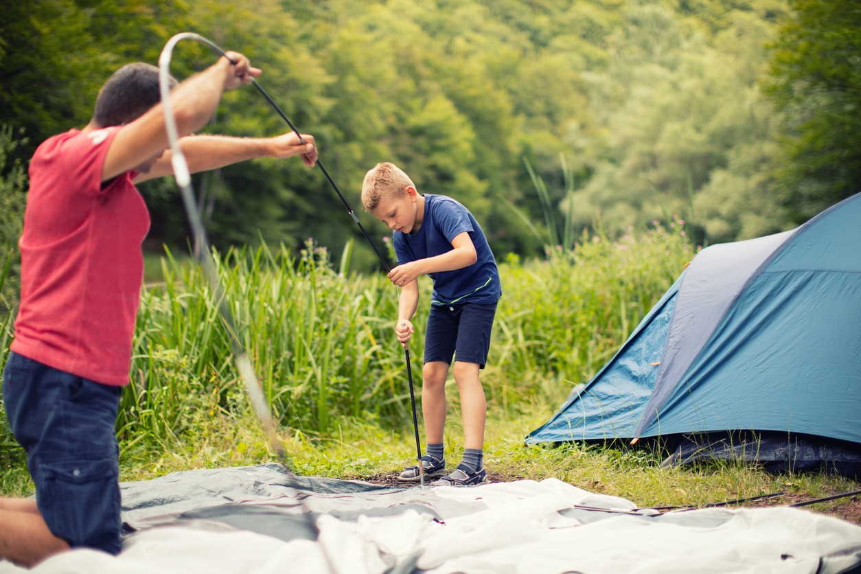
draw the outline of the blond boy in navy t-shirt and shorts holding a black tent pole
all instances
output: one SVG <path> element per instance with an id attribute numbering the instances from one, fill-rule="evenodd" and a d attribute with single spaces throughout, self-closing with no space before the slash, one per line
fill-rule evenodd
<path id="1" fill-rule="evenodd" d="M 433 280 L 422 370 L 424 475 L 439 478 L 432 485 L 478 485 L 486 478 L 482 464 L 486 402 L 479 370 L 487 361 L 493 316 L 502 295 L 496 260 L 466 207 L 445 195 L 418 194 L 409 176 L 394 164 L 377 164 L 368 172 L 362 206 L 393 230 L 398 266 L 388 278 L 401 288 L 395 332 L 405 347 L 414 332 L 418 276 L 430 275 Z M 445 381 L 452 358 L 461 396 L 464 451 L 461 464 L 446 474 Z M 419 479 L 418 466 L 406 467 L 398 477 L 401 482 Z"/>

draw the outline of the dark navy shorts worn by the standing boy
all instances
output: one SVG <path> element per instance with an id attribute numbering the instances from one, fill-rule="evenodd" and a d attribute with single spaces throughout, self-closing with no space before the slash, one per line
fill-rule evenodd
<path id="1" fill-rule="evenodd" d="M 431 305 L 424 334 L 424 362 L 478 363 L 484 368 L 490 351 L 490 335 L 496 303 L 482 305 Z"/>

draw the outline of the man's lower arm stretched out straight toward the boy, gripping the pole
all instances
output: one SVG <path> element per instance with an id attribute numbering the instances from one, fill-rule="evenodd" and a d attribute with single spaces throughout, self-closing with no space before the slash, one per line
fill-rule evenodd
<path id="1" fill-rule="evenodd" d="M 275 138 L 232 138 L 216 135 L 194 135 L 180 140 L 183 154 L 189 162 L 189 171 L 217 170 L 225 165 L 244 162 L 256 157 L 292 157 L 301 155 L 302 161 L 308 167 L 313 167 L 317 161 L 317 148 L 313 136 L 302 134 L 305 144 L 300 143 L 294 132 L 288 132 Z M 134 178 L 135 183 L 173 173 L 171 163 L 172 151 L 164 151 L 164 155 L 152 165 L 147 173 Z"/>

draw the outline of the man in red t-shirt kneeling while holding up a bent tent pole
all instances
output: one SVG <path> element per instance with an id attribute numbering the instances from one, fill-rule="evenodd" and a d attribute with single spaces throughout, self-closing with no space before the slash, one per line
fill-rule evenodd
<path id="1" fill-rule="evenodd" d="M 228 52 L 172 90 L 192 173 L 254 157 L 316 163 L 310 135 L 187 135 L 206 124 L 224 91 L 260 73 Z M 159 101 L 158 68 L 123 66 L 102 86 L 90 123 L 47 139 L 30 162 L 21 306 L 3 402 L 28 453 L 36 500 L 0 498 L 0 558 L 29 566 L 71 547 L 120 551 L 114 425 L 150 226 L 134 184 L 173 173 Z"/>

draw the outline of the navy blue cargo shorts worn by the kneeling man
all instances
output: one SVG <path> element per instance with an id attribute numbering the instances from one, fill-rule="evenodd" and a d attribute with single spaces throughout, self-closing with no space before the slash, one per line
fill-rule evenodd
<path id="1" fill-rule="evenodd" d="M 69 546 L 120 552 L 119 386 L 9 353 L 3 404 L 27 451 L 36 504 Z"/>

